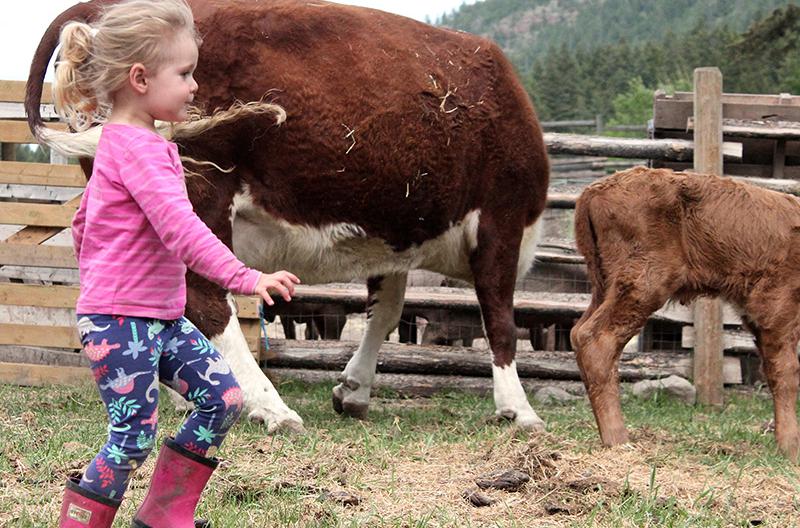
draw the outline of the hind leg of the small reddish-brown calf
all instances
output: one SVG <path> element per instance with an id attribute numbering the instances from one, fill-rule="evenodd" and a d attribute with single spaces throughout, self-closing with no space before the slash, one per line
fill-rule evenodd
<path id="1" fill-rule="evenodd" d="M 628 441 L 617 367 L 622 348 L 668 298 L 665 288 L 648 288 L 638 283 L 638 280 L 652 280 L 658 273 L 638 273 L 634 265 L 630 269 L 631 275 L 638 276 L 637 280 L 624 287 L 617 284 L 609 292 L 594 292 L 589 309 L 570 335 L 600 438 L 607 446 Z"/>

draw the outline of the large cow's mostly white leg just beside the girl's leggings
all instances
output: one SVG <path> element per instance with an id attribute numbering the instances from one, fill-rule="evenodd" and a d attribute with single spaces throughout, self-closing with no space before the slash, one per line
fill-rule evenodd
<path id="1" fill-rule="evenodd" d="M 193 283 L 202 283 L 193 288 Z M 278 395 L 258 366 L 236 317 L 233 297 L 211 283 L 190 275 L 187 317 L 220 351 L 244 393 L 244 411 L 263 422 L 267 432 L 302 432 L 303 420 Z"/>

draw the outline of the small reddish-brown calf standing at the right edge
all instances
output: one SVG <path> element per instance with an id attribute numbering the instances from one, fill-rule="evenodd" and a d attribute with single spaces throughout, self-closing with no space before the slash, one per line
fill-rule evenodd
<path id="1" fill-rule="evenodd" d="M 617 371 L 625 343 L 666 301 L 719 296 L 755 336 L 778 447 L 796 460 L 800 200 L 730 178 L 637 167 L 583 192 L 575 238 L 592 301 L 571 339 L 603 443 L 628 440 Z"/>

